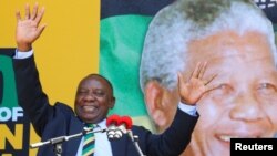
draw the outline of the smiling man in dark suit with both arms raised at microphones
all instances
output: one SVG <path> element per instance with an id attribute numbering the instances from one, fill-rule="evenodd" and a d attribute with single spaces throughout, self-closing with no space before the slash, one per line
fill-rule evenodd
<path id="1" fill-rule="evenodd" d="M 72 135 L 83 131 L 84 124 L 96 124 L 105 128 L 105 118 L 115 104 L 112 84 L 99 74 L 89 74 L 81 80 L 76 94 L 74 111 L 63 103 L 49 103 L 42 91 L 39 72 L 35 66 L 32 43 L 40 37 L 45 24 L 40 25 L 44 9 L 35 4 L 33 11 L 25 7 L 25 18 L 17 12 L 17 44 L 13 59 L 19 104 L 30 117 L 35 132 L 48 141 L 53 137 Z M 211 80 L 203 80 L 206 63 L 198 63 L 189 80 L 179 77 L 181 104 L 173 124 L 161 135 L 154 135 L 141 126 L 133 126 L 140 147 L 147 156 L 176 156 L 189 143 L 191 134 L 197 122 L 196 102 L 212 87 Z M 184 104 L 185 103 L 185 104 Z M 83 137 L 70 139 L 62 144 L 62 155 L 81 155 Z M 55 155 L 53 146 L 41 146 L 38 155 Z M 135 156 L 138 155 L 132 141 L 124 135 L 116 142 L 109 142 L 105 134 L 95 134 L 94 156 Z"/>

